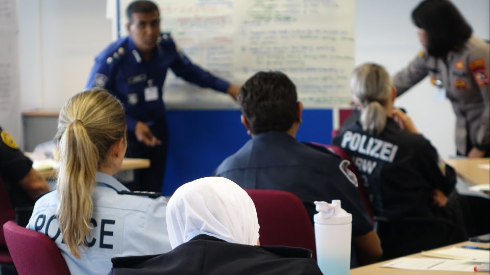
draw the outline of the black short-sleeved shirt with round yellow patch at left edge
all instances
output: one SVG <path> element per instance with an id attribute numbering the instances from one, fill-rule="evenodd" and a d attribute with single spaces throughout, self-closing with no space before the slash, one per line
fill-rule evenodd
<path id="1" fill-rule="evenodd" d="M 33 206 L 32 200 L 26 191 L 17 183 L 29 174 L 32 161 L 17 149 L 12 137 L 0 127 L 0 176 L 3 179 L 10 203 L 13 207 Z"/>

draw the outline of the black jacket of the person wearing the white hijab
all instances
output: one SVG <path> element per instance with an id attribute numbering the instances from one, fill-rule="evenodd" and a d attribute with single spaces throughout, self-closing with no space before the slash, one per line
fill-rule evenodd
<path id="1" fill-rule="evenodd" d="M 198 235 L 160 255 L 112 258 L 110 274 L 322 274 L 311 251 L 229 243 Z"/>

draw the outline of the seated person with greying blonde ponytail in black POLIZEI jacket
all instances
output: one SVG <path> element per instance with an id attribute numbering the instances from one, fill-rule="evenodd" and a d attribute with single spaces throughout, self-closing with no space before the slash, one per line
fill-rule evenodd
<path id="1" fill-rule="evenodd" d="M 462 241 L 466 232 L 454 190 L 454 169 L 440 160 L 411 119 L 393 107 L 397 91 L 389 74 L 376 64 L 361 65 L 354 70 L 351 90 L 361 106 L 360 119 L 346 125 L 332 144 L 351 156 L 375 215 L 446 218 L 461 229 L 456 234 L 459 239 L 453 241 Z M 437 234 L 443 232 L 427 231 L 421 238 Z"/>

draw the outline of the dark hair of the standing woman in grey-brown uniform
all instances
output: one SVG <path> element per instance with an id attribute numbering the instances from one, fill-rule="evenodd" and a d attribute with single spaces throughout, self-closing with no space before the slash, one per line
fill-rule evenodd
<path id="1" fill-rule="evenodd" d="M 412 12 L 412 21 L 427 32 L 427 52 L 445 57 L 471 37 L 473 30 L 448 0 L 422 1 Z"/>

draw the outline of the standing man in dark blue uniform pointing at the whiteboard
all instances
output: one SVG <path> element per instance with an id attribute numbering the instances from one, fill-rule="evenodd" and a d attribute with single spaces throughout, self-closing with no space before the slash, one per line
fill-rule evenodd
<path id="1" fill-rule="evenodd" d="M 168 135 L 162 100 L 167 69 L 233 98 L 239 87 L 192 64 L 170 34 L 160 33 L 160 13 L 153 2 L 132 2 L 126 14 L 129 37 L 111 43 L 96 57 L 87 88 L 104 88 L 121 101 L 128 124 L 128 157 L 151 161 L 149 169 L 134 171 L 131 188 L 161 192 Z"/>

